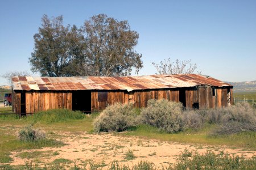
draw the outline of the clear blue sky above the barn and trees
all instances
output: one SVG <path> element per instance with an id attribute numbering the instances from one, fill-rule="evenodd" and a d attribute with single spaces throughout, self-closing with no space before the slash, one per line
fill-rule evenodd
<path id="1" fill-rule="evenodd" d="M 139 75 L 155 74 L 151 62 L 170 57 L 191 59 L 202 74 L 220 80 L 256 80 L 256 1 L 0 0 L 0 74 L 30 71 L 33 35 L 43 14 L 63 15 L 64 24 L 79 27 L 97 14 L 128 20 L 139 33 Z"/>

